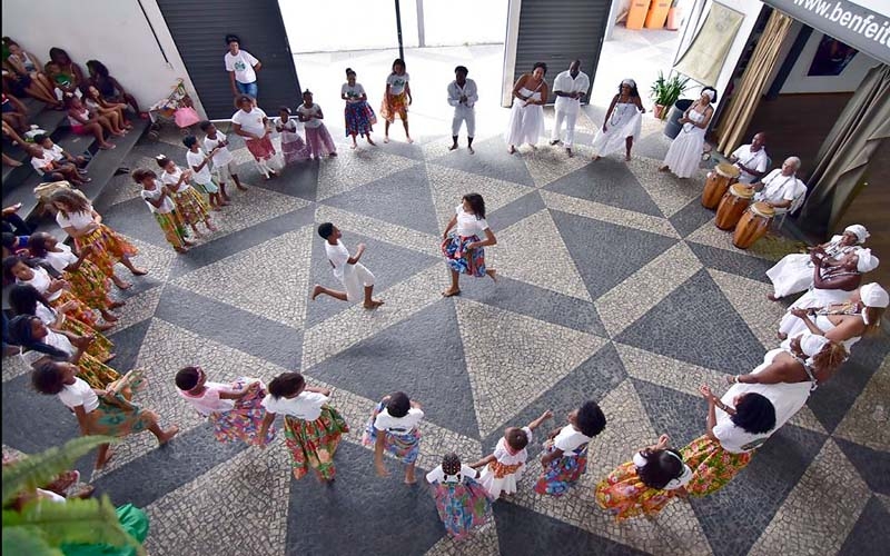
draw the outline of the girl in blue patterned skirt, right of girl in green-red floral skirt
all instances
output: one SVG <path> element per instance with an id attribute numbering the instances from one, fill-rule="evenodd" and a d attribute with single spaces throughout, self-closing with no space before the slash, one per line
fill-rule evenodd
<path id="1" fill-rule="evenodd" d="M 405 468 L 405 484 L 417 483 L 414 468 L 421 454 L 421 429 L 417 425 L 424 418 L 421 404 L 412 401 L 404 391 L 384 397 L 370 414 L 362 444 L 374 446 L 374 466 L 377 475 L 388 477 L 389 471 L 383 463 L 384 450 L 394 455 Z"/>

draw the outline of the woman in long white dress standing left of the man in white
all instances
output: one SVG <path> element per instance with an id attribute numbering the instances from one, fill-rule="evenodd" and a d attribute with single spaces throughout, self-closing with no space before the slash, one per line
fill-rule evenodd
<path id="1" fill-rule="evenodd" d="M 533 149 L 538 137 L 544 133 L 544 103 L 550 97 L 550 88 L 544 81 L 547 64 L 535 63 L 531 73 L 523 73 L 513 86 L 513 110 L 510 112 L 507 132 L 504 141 L 510 146 L 507 152 L 516 152 L 516 146 L 527 142 Z"/>

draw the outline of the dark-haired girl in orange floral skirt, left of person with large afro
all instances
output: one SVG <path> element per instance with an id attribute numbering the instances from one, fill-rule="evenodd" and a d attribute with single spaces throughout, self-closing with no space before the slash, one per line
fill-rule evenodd
<path id="1" fill-rule="evenodd" d="M 674 497 L 686 495 L 692 469 L 679 451 L 668 447 L 669 441 L 668 435 L 661 435 L 657 444 L 636 453 L 596 485 L 596 503 L 615 522 L 639 516 L 652 519 Z"/>

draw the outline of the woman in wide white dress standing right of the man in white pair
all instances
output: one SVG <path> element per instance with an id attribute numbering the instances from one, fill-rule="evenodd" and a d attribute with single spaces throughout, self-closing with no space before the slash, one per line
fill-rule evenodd
<path id="1" fill-rule="evenodd" d="M 619 93 L 612 98 L 606 110 L 603 128 L 596 131 L 593 139 L 593 159 L 611 155 L 624 145 L 624 160 L 631 159 L 633 141 L 640 139 L 645 108 L 636 90 L 636 81 L 625 79 L 619 86 Z"/>

